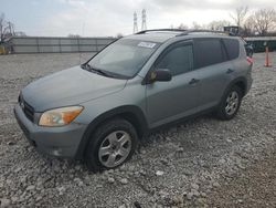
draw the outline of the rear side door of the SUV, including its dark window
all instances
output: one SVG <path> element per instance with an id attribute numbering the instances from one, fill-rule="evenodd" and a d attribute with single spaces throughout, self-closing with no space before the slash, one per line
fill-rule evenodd
<path id="1" fill-rule="evenodd" d="M 200 110 L 215 106 L 234 72 L 222 39 L 194 39 L 194 66 L 201 83 Z"/>

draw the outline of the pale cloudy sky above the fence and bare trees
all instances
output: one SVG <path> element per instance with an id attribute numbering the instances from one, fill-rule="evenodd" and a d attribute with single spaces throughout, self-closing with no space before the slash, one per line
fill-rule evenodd
<path id="1" fill-rule="evenodd" d="M 84 37 L 132 33 L 132 15 L 147 10 L 148 29 L 229 20 L 235 8 L 276 8 L 276 0 L 0 0 L 0 12 L 29 35 Z"/>

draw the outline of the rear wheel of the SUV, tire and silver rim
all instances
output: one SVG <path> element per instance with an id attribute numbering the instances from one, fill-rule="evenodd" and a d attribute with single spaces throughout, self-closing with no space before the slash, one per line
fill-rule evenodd
<path id="1" fill-rule="evenodd" d="M 217 117 L 223 121 L 235 117 L 242 103 L 242 90 L 236 85 L 226 91 L 217 108 Z"/>

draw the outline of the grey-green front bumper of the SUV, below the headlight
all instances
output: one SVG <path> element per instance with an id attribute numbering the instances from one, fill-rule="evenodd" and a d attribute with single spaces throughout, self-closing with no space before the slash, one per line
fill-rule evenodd
<path id="1" fill-rule="evenodd" d="M 39 126 L 26 118 L 19 104 L 14 107 L 14 115 L 25 137 L 38 152 L 55 157 L 76 156 L 87 125 L 73 122 L 61 127 Z"/>

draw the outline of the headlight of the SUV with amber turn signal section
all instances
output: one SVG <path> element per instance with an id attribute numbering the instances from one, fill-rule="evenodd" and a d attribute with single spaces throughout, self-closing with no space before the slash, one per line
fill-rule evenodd
<path id="1" fill-rule="evenodd" d="M 83 106 L 70 106 L 46 111 L 41 115 L 39 125 L 64 126 L 71 123 L 83 108 Z"/>

